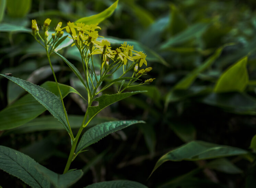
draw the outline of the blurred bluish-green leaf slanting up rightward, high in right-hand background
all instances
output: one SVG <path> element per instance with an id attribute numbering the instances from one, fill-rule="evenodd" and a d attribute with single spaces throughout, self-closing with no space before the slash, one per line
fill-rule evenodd
<path id="1" fill-rule="evenodd" d="M 161 49 L 168 49 L 168 47 L 172 47 L 177 44 L 181 44 L 186 42 L 187 40 L 193 39 L 197 36 L 200 36 L 203 32 L 206 31 L 209 23 L 196 23 L 194 25 L 189 26 L 186 30 L 181 33 L 176 34 L 175 36 L 168 39 L 161 45 Z"/>

